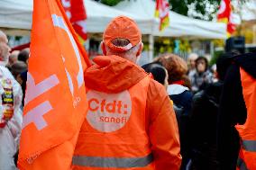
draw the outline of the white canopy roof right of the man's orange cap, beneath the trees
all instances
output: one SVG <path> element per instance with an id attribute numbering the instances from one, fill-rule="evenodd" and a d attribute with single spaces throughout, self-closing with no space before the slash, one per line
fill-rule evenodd
<path id="1" fill-rule="evenodd" d="M 155 2 L 152 0 L 124 0 L 114 8 L 148 20 L 154 20 Z M 196 37 L 208 39 L 224 39 L 226 37 L 226 25 L 219 22 L 206 22 L 188 18 L 178 13 L 169 12 L 169 27 L 159 31 L 159 21 L 153 24 L 155 36 L 166 37 Z"/>

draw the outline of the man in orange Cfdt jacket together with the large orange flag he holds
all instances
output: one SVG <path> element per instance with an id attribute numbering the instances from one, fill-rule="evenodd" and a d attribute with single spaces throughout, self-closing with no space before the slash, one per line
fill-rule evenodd
<path id="1" fill-rule="evenodd" d="M 136 23 L 117 17 L 90 67 L 60 2 L 34 0 L 19 168 L 178 170 L 175 113 L 135 65 L 142 47 Z"/>

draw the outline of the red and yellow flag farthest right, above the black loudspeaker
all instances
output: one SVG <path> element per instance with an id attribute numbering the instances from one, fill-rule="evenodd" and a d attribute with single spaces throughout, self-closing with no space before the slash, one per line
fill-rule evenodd
<path id="1" fill-rule="evenodd" d="M 228 37 L 235 31 L 235 24 L 233 23 L 233 12 L 232 4 L 230 0 L 222 0 L 218 13 L 218 22 L 224 22 L 227 24 L 227 35 Z"/>

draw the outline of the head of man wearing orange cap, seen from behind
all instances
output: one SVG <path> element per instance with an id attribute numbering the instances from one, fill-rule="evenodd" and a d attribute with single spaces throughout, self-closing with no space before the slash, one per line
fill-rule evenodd
<path id="1" fill-rule="evenodd" d="M 102 49 L 105 55 L 134 61 L 142 52 L 142 32 L 132 19 L 116 17 L 105 29 Z"/>

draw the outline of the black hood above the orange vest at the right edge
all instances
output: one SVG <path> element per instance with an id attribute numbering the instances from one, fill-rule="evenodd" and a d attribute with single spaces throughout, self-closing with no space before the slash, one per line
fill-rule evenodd
<path id="1" fill-rule="evenodd" d="M 235 63 L 256 78 L 256 53 L 247 53 L 235 58 Z"/>

